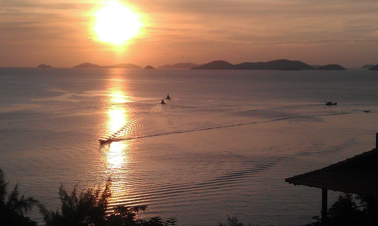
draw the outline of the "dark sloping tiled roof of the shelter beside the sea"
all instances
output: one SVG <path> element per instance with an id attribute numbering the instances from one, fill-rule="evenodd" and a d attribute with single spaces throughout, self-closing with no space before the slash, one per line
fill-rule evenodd
<path id="1" fill-rule="evenodd" d="M 360 195 L 378 195 L 377 150 L 285 179 L 289 184 Z"/>

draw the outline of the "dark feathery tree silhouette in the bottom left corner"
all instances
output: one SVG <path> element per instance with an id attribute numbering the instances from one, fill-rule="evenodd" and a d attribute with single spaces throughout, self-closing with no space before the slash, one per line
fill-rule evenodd
<path id="1" fill-rule="evenodd" d="M 33 197 L 25 198 L 25 194 L 19 198 L 18 186 L 16 184 L 12 192 L 6 197 L 6 186 L 4 174 L 0 169 L 0 226 L 36 226 L 37 222 L 25 217 L 38 201 Z"/>

